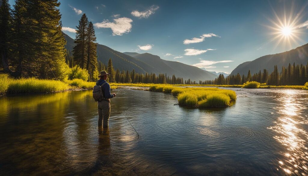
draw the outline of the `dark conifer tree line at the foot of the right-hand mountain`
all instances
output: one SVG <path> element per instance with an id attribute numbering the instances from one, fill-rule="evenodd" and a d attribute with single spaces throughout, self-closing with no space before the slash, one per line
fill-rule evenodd
<path id="1" fill-rule="evenodd" d="M 240 85 L 247 81 L 257 81 L 259 83 L 266 83 L 267 85 L 304 85 L 308 82 L 308 63 L 307 65 L 291 65 L 288 67 L 282 66 L 281 72 L 278 72 L 277 65 L 274 66 L 274 71 L 269 74 L 268 70 L 263 69 L 251 76 L 250 70 L 247 76 L 229 75 L 224 76 L 220 74 L 215 80 L 199 81 L 199 84 L 214 84 L 214 85 Z"/>

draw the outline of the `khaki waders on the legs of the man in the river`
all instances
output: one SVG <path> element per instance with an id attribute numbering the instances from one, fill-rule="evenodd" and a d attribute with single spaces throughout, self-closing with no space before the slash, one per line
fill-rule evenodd
<path id="1" fill-rule="evenodd" d="M 110 117 L 110 100 L 102 100 L 101 102 L 97 102 L 97 109 L 98 109 L 98 126 L 102 126 L 103 122 L 103 128 L 108 127 L 108 121 Z"/>

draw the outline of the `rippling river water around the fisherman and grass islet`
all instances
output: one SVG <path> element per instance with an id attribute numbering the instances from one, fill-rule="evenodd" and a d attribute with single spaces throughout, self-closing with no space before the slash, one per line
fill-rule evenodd
<path id="1" fill-rule="evenodd" d="M 0 175 L 307 175 L 308 91 L 230 89 L 204 110 L 115 90 L 103 130 L 91 90 L 0 97 Z"/>

